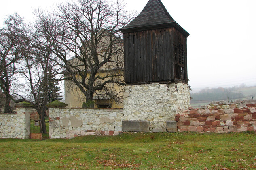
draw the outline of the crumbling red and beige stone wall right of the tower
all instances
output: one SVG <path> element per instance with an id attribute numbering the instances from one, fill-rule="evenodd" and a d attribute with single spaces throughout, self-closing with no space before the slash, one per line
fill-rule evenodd
<path id="1" fill-rule="evenodd" d="M 256 131 L 256 100 L 220 101 L 202 106 L 201 109 L 189 108 L 177 114 L 176 121 L 178 131 Z"/>

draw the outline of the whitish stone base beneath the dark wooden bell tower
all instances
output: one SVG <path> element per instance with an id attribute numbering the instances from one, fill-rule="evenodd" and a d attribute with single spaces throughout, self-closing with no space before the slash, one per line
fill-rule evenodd
<path id="1" fill-rule="evenodd" d="M 150 130 L 165 131 L 166 121 L 174 120 L 178 110 L 190 106 L 186 83 L 144 84 L 125 87 L 124 121 L 149 121 Z"/>

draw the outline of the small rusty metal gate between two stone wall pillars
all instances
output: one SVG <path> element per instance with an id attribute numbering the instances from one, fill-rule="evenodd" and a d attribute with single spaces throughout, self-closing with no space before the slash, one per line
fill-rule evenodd
<path id="1" fill-rule="evenodd" d="M 42 140 L 42 124 L 38 112 L 30 114 L 30 139 Z"/>

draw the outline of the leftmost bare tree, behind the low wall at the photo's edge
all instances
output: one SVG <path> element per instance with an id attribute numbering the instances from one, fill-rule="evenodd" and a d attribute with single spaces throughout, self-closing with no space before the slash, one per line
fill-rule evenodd
<path id="1" fill-rule="evenodd" d="M 6 19 L 4 27 L 0 29 L 0 87 L 5 95 L 5 113 L 11 113 L 11 88 L 16 79 L 17 62 L 22 57 L 20 47 L 24 42 L 23 26 L 23 19 L 14 14 Z"/>

